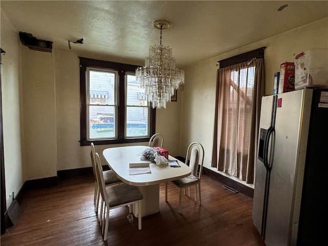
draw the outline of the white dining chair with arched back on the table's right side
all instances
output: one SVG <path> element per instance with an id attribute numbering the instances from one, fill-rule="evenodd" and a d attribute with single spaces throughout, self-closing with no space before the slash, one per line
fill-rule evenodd
<path id="1" fill-rule="evenodd" d="M 173 180 L 175 186 L 179 188 L 179 214 L 181 213 L 181 197 L 182 190 L 186 195 L 186 188 L 188 188 L 188 196 L 190 197 L 190 187 L 195 186 L 195 201 L 197 202 L 197 187 L 198 187 L 198 203 L 201 205 L 200 193 L 200 177 L 203 168 L 204 149 L 199 142 L 192 142 L 187 150 L 186 165 L 189 163 L 191 174 L 188 177 Z M 199 171 L 198 171 L 199 169 Z M 165 183 L 165 201 L 168 201 L 168 182 Z"/>

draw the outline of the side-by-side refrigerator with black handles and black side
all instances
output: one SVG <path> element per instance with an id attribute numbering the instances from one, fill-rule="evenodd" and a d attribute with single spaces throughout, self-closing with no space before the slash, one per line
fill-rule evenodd
<path id="1" fill-rule="evenodd" d="M 328 245 L 328 90 L 262 97 L 253 222 L 267 246 Z"/>

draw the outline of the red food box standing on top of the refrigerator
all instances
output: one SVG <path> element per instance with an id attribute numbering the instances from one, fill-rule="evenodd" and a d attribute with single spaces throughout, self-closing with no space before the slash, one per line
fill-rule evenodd
<path id="1" fill-rule="evenodd" d="M 295 64 L 283 63 L 280 65 L 278 94 L 295 91 Z"/>

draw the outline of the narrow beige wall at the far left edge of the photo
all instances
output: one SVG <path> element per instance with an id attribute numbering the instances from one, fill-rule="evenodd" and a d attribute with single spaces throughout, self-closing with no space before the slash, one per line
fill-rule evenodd
<path id="1" fill-rule="evenodd" d="M 20 42 L 17 31 L 1 10 L 1 91 L 7 208 L 25 182 Z"/>

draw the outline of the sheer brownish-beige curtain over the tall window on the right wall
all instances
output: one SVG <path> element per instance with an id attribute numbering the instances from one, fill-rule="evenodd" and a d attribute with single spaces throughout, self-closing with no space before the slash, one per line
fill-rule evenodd
<path id="1" fill-rule="evenodd" d="M 264 59 L 218 69 L 212 167 L 254 181 Z"/>

